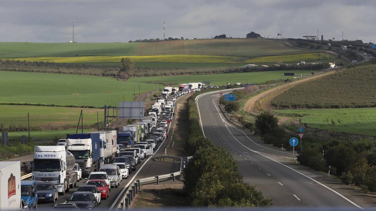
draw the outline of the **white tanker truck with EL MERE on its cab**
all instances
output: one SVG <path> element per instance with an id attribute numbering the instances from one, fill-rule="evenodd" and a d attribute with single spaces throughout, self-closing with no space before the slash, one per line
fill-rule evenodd
<path id="1" fill-rule="evenodd" d="M 68 147 L 69 140 L 67 139 Z M 73 171 L 76 160 L 64 146 L 34 146 L 32 179 L 39 182 L 52 182 L 59 194 L 74 188 L 77 174 Z"/>

